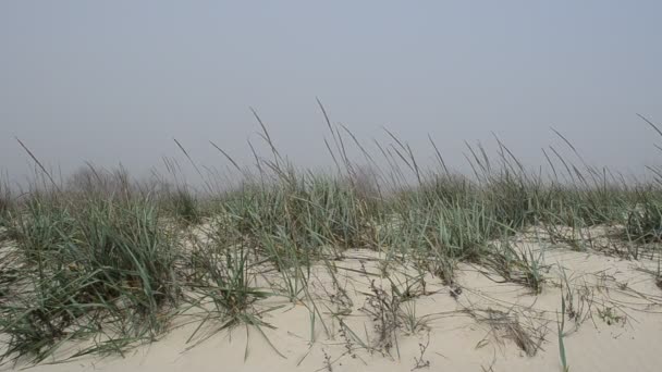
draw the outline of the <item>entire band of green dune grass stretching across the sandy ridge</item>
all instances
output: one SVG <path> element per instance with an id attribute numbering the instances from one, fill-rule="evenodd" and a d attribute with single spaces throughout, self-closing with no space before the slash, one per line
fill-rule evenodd
<path id="1" fill-rule="evenodd" d="M 434 142 L 439 164 L 422 169 L 390 133 L 392 144 L 377 144 L 384 169 L 346 128 L 328 124 L 335 174 L 296 170 L 262 124 L 271 154 L 256 154 L 254 172 L 221 150 L 244 177 L 222 193 L 196 193 L 182 183 L 174 191 L 145 187 L 122 170 L 91 165 L 57 184 L 40 163 L 48 176 L 21 198 L 0 187 L 1 236 L 12 247 L 0 265 L 0 359 L 44 361 L 73 339 L 89 346 L 62 358 L 121 354 L 157 339 L 182 309 L 203 314 L 192 339 L 242 323 L 269 326 L 257 302 L 273 296 L 311 300 L 311 265 L 332 268 L 352 248 L 404 257 L 452 288 L 456 264 L 470 262 L 539 293 L 541 253 L 512 246 L 517 232 L 542 227 L 551 238 L 583 247 L 580 234 L 568 238 L 559 226 L 615 226 L 613 238 L 629 247 L 624 255 L 633 259 L 662 236 L 662 184 L 654 177 L 626 182 L 583 161 L 576 165 L 553 148 L 549 172 L 531 172 L 499 139 L 492 157 L 469 147 L 473 175 L 450 172 Z M 377 171 L 352 161 L 350 144 Z M 189 238 L 199 225 L 208 227 L 205 236 Z M 258 287 L 266 270 L 280 280 Z M 376 298 L 388 297 L 376 290 Z M 392 308 L 387 323 L 402 320 L 400 303 L 406 302 L 392 297 L 397 303 L 376 302 Z M 309 302 L 314 327 L 322 317 Z M 416 328 L 409 318 L 405 323 Z M 393 326 L 384 326 L 382 343 L 391 343 Z M 562 333 L 561 326 L 561 345 Z"/>

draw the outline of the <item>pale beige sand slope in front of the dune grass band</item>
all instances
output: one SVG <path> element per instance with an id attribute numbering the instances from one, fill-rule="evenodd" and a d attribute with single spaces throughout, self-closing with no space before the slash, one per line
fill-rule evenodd
<path id="1" fill-rule="evenodd" d="M 430 275 L 425 276 L 422 293 L 414 269 L 391 260 L 384 271 L 384 255 L 354 250 L 334 262 L 344 290 L 333 288 L 324 266 L 314 271 L 310 296 L 324 314 L 323 323 L 316 317 L 314 330 L 310 301 L 292 303 L 272 298 L 257 307 L 265 310 L 282 306 L 262 315 L 273 326 L 261 327 L 267 337 L 256 327 L 240 325 L 186 350 L 192 345 L 186 340 L 196 326 L 188 324 L 173 328 L 151 345 L 136 347 L 125 358 L 88 358 L 37 365 L 33 370 L 387 372 L 409 371 L 418 364 L 421 371 L 561 371 L 557 319 L 562 271 L 574 288 L 573 307 L 583 308 L 579 324 L 565 321 L 564 342 L 571 370 L 660 370 L 662 290 L 651 274 L 638 270 L 657 268 L 657 262 L 628 261 L 526 241 L 522 246 L 536 252 L 544 249 L 544 262 L 550 265 L 543 290 L 537 296 L 520 285 L 500 283 L 498 275 L 486 275 L 483 268 L 469 264 L 457 269 L 457 284 L 462 288 L 458 296 L 451 296 L 450 287 Z M 387 340 L 378 336 L 376 324 L 380 322 L 361 310 L 375 310 L 366 295 L 373 294 L 371 281 L 387 296 L 391 294 L 391 282 L 383 273 L 401 290 L 405 282 L 417 283 L 412 292 L 418 295 L 400 305 L 401 324 Z M 340 300 L 343 292 L 347 298 Z M 584 300 L 579 299 L 581 294 Z M 345 313 L 342 317 L 345 327 L 340 325 L 339 318 L 330 315 L 341 311 Z M 404 314 L 413 312 L 415 317 L 410 319 L 418 323 L 414 331 L 404 324 L 408 319 Z M 524 349 L 522 339 L 530 343 Z M 428 345 L 422 356 L 421 345 Z"/>

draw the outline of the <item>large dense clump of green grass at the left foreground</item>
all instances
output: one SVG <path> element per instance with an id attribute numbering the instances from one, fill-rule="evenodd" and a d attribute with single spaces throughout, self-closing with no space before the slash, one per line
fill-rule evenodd
<path id="1" fill-rule="evenodd" d="M 20 293 L 0 303 L 4 357 L 40 361 L 62 340 L 101 330 L 106 345 L 163 330 L 181 295 L 179 252 L 149 201 L 36 197 L 19 215 L 10 228 Z"/>

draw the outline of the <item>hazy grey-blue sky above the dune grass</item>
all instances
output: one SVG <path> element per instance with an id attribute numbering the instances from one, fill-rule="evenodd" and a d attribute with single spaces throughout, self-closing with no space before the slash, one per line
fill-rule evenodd
<path id="1" fill-rule="evenodd" d="M 528 163 L 572 139 L 589 160 L 660 162 L 662 1 L 0 2 L 0 170 L 177 156 L 248 162 L 249 107 L 302 165 L 328 164 L 319 97 L 359 138 L 397 133 L 449 162 L 497 133 Z"/>

